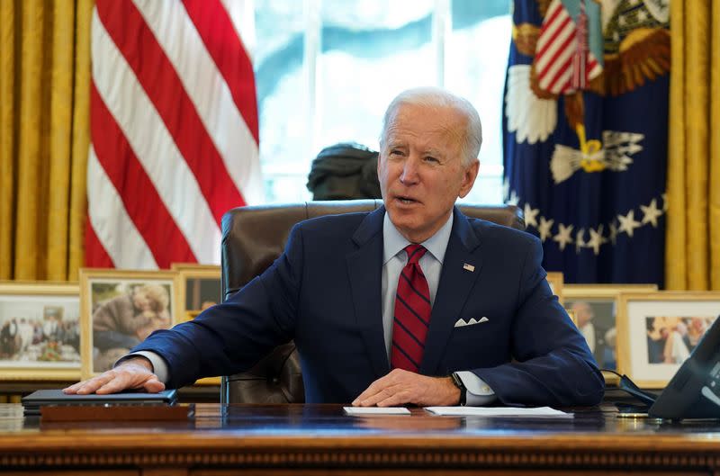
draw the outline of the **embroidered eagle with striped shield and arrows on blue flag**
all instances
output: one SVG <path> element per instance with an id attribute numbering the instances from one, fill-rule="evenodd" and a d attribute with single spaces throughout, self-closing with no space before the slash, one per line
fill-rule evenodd
<path id="1" fill-rule="evenodd" d="M 612 8 L 604 27 L 601 6 Z M 574 20 L 570 12 L 576 12 Z M 666 74 L 670 70 L 670 33 L 653 25 L 653 20 L 668 22 L 667 1 L 616 0 L 601 5 L 593 0 L 553 0 L 542 27 L 524 29 L 529 37 L 525 43 L 530 45 L 527 54 L 533 57 L 533 63 L 509 67 L 509 130 L 518 131 L 518 141 L 547 139 L 557 123 L 557 96 L 567 96 L 565 115 L 581 147 L 555 148 L 550 165 L 555 183 L 567 180 L 577 170 L 624 171 L 633 163 L 631 156 L 642 150 L 639 142 L 643 136 L 633 132 L 607 130 L 603 138 L 608 141 L 586 139 L 580 93 L 589 90 L 600 95 L 624 94 L 646 80 Z M 605 54 L 601 54 L 600 45 L 605 46 Z M 604 74 L 606 61 L 608 73 Z M 528 103 L 533 107 L 526 108 Z"/>

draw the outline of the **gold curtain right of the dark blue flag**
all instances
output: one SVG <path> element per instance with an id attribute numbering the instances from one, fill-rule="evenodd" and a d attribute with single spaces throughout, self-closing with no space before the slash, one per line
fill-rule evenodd
<path id="1" fill-rule="evenodd" d="M 665 283 L 720 290 L 720 2 L 673 0 L 671 35 Z"/>

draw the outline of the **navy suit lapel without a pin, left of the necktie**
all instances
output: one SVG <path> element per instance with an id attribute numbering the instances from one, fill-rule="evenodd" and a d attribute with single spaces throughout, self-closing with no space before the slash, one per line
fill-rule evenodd
<path id="1" fill-rule="evenodd" d="M 390 372 L 383 334 L 383 219 L 385 209 L 368 214 L 353 235 L 358 249 L 346 256 L 357 326 L 378 378 Z"/>

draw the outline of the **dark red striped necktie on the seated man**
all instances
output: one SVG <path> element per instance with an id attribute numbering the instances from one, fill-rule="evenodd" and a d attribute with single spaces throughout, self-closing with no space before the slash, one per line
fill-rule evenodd
<path id="1" fill-rule="evenodd" d="M 417 373 L 430 325 L 430 289 L 419 259 L 428 251 L 421 245 L 405 247 L 408 264 L 402 268 L 395 294 L 390 364 Z"/>

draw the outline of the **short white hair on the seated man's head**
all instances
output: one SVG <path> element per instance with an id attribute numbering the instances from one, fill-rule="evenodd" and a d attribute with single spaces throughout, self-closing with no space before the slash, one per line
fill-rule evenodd
<path id="1" fill-rule="evenodd" d="M 408 89 L 398 94 L 395 99 L 392 100 L 383 117 L 383 132 L 380 135 L 381 149 L 387 140 L 388 126 L 395 120 L 395 115 L 403 104 L 436 109 L 450 107 L 464 114 L 467 121 L 465 123 L 464 139 L 460 144 L 463 164 L 464 166 L 469 166 L 473 163 L 473 160 L 478 158 L 480 146 L 482 145 L 480 115 L 470 101 L 439 87 L 416 87 Z"/>

